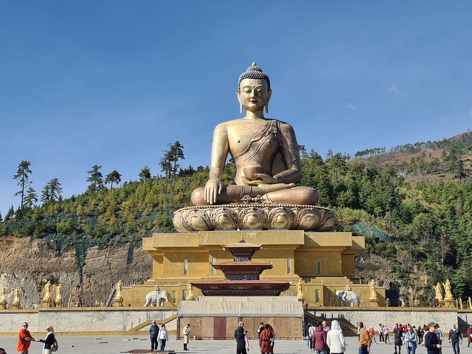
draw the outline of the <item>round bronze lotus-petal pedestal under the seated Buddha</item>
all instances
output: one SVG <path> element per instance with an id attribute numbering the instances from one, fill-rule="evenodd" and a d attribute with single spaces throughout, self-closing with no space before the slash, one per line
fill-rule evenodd
<path id="1" fill-rule="evenodd" d="M 190 206 L 174 212 L 179 232 L 213 230 L 304 230 L 328 232 L 334 213 L 323 207 L 297 204 L 227 204 Z"/>

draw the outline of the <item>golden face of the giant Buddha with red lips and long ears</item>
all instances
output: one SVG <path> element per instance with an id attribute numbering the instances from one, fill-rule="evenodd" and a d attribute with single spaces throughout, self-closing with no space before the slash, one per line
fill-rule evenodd
<path id="1" fill-rule="evenodd" d="M 267 90 L 265 79 L 243 79 L 240 87 L 238 100 L 250 112 L 262 111 L 271 98 L 272 90 Z"/>

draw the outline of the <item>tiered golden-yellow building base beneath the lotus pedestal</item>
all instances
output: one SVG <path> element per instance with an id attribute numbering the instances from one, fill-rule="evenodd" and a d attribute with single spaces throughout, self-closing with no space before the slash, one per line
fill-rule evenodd
<path id="1" fill-rule="evenodd" d="M 165 307 L 177 308 L 179 301 L 183 300 L 183 291 L 187 290 L 189 279 L 193 282 L 224 279 L 221 271 L 211 274 L 211 260 L 232 260 L 231 253 L 224 250 L 222 244 L 238 242 L 241 234 L 246 242 L 262 244 L 262 249 L 255 252 L 253 260 L 273 264 L 272 269 L 262 273 L 261 279 L 291 282 L 287 294 L 294 296 L 297 295 L 295 283 L 303 279 L 304 304 L 307 307 L 333 304 L 334 292 L 344 290 L 348 284 L 365 301 L 363 305 L 369 305 L 368 284 L 356 284 L 354 279 L 354 257 L 364 250 L 364 237 L 343 232 L 284 230 L 153 234 L 152 238 L 143 239 L 143 250 L 153 257 L 152 278 L 144 285 L 123 288 L 123 306 L 142 306 L 140 301 L 157 285 L 159 290 L 168 293 L 169 302 Z M 185 259 L 187 274 L 184 274 Z M 320 274 L 317 259 L 320 260 Z M 193 288 L 193 296 L 196 298 L 199 295 L 201 292 Z M 379 305 L 384 303 L 384 288 L 377 289 L 377 297 Z"/>

